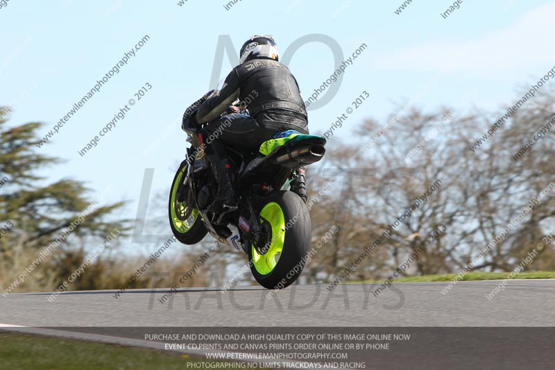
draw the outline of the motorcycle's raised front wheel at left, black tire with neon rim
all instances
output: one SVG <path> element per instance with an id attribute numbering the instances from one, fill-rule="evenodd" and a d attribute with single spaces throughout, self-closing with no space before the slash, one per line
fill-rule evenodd
<path id="1" fill-rule="evenodd" d="M 183 217 L 185 215 L 187 205 L 185 205 L 185 202 L 178 202 L 176 199 L 177 189 L 180 182 L 182 181 L 186 169 L 187 161 L 184 160 L 183 162 L 181 162 L 181 165 L 179 165 L 176 176 L 173 177 L 171 188 L 169 190 L 168 216 L 171 232 L 176 237 L 176 239 L 178 239 L 183 244 L 191 245 L 196 244 L 200 242 L 200 240 L 204 239 L 208 230 L 206 229 L 206 226 L 204 226 L 203 220 L 200 218 L 200 214 L 198 214 L 198 210 L 196 210 L 196 208 L 191 211 L 191 217 L 193 217 L 194 222 L 192 225 L 187 226 L 187 223 L 185 223 L 185 221 L 187 220 L 185 219 L 185 217 Z M 195 214 L 196 218 L 194 218 Z"/>

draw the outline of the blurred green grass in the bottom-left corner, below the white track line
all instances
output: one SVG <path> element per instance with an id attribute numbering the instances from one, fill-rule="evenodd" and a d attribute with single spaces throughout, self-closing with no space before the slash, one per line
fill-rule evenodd
<path id="1" fill-rule="evenodd" d="M 193 362 L 206 361 L 150 349 L 0 333 L 2 370 L 194 369 Z"/>

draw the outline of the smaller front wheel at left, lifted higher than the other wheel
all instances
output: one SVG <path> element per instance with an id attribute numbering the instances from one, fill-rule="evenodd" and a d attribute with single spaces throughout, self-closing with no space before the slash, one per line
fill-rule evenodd
<path id="1" fill-rule="evenodd" d="M 207 234 L 200 212 L 193 205 L 187 204 L 187 190 L 182 188 L 187 161 L 181 162 L 169 192 L 169 225 L 171 232 L 183 244 L 196 244 Z"/>

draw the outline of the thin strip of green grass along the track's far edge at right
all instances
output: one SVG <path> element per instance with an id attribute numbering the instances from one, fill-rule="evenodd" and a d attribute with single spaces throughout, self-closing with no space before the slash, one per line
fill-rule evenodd
<path id="1" fill-rule="evenodd" d="M 511 274 L 509 272 L 469 272 L 462 280 L 503 280 Z M 396 278 L 393 283 L 423 283 L 427 281 L 451 281 L 458 278 L 459 274 L 407 276 Z M 555 271 L 523 271 L 515 279 L 553 279 Z M 367 280 L 365 283 L 382 283 L 383 280 Z"/>

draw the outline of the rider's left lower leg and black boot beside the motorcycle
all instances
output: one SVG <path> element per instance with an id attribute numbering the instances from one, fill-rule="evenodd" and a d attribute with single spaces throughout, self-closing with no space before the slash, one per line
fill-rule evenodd
<path id="1" fill-rule="evenodd" d="M 208 206 L 209 212 L 223 212 L 236 209 L 235 192 L 233 190 L 233 169 L 230 160 L 225 155 L 225 148 L 218 141 L 210 143 L 207 158 L 212 165 L 212 171 L 218 182 L 216 198 Z"/>

